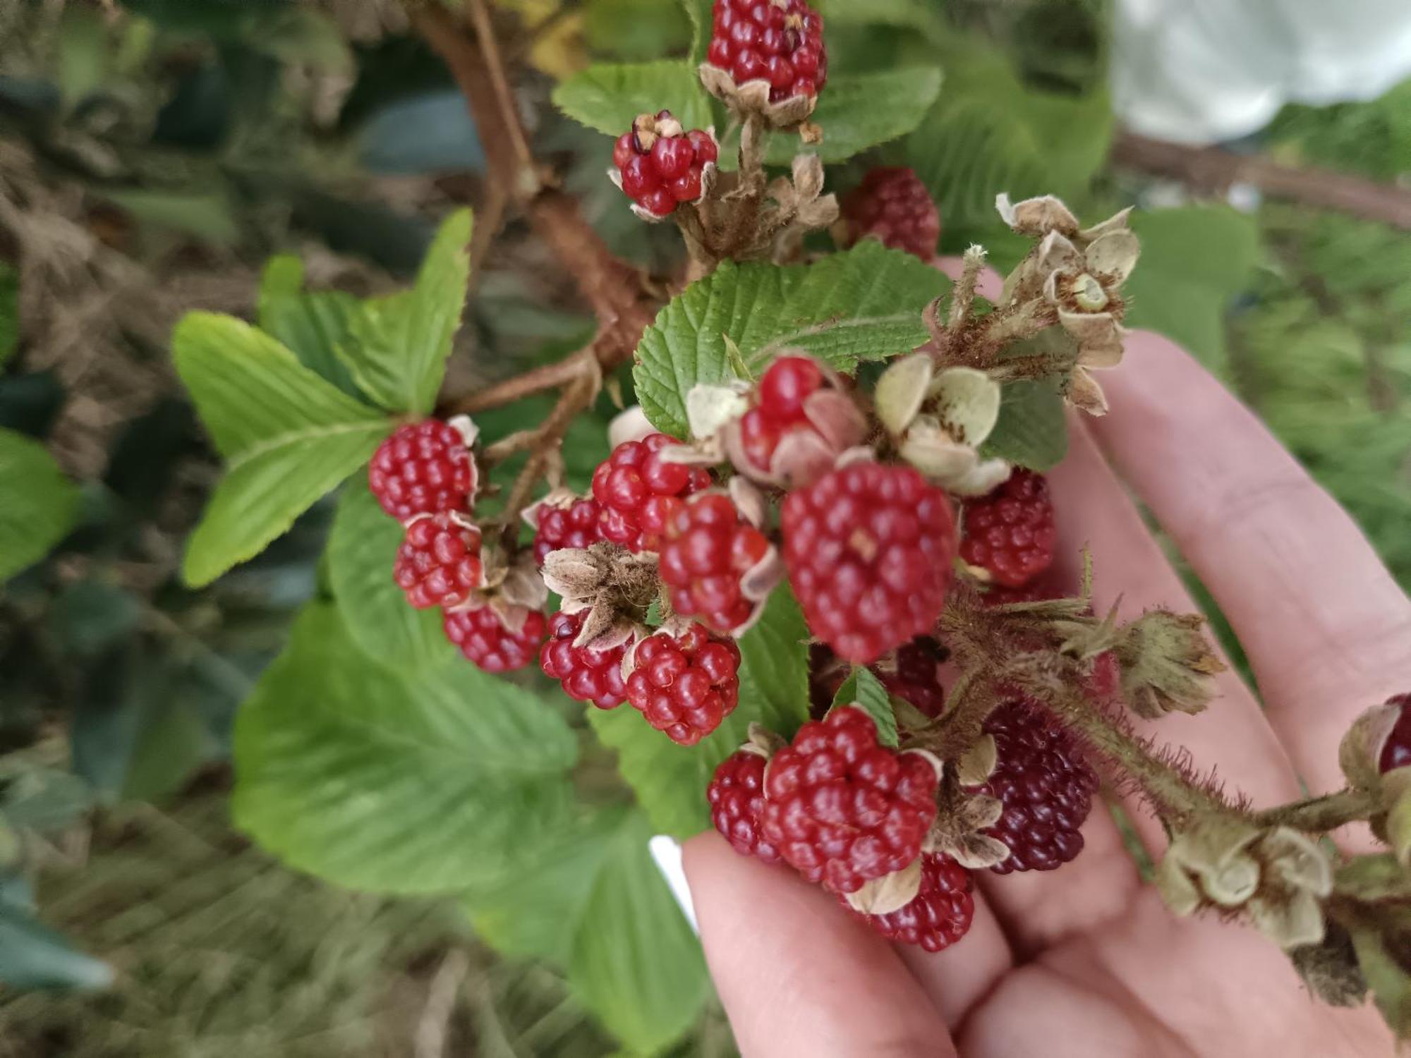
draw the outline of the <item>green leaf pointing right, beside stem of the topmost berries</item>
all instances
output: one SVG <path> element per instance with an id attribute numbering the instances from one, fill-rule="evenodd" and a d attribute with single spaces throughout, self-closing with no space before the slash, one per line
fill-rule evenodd
<path id="1" fill-rule="evenodd" d="M 823 142 L 807 150 L 832 164 L 906 135 L 921 123 L 940 92 L 941 71 L 935 66 L 828 78 L 810 118 L 823 128 Z M 772 165 L 787 165 L 796 154 L 797 137 L 775 135 L 766 158 Z"/>

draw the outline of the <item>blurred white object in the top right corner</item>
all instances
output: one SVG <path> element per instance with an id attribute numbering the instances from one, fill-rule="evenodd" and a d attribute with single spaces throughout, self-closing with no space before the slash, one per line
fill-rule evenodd
<path id="1" fill-rule="evenodd" d="M 1373 99 L 1411 76 L 1411 0 L 1119 0 L 1112 100 L 1132 131 L 1208 144 L 1284 103 Z"/>

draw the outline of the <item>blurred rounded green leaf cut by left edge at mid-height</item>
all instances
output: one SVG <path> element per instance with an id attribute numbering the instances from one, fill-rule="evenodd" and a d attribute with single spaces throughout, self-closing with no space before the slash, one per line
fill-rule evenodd
<path id="1" fill-rule="evenodd" d="M 78 505 L 78 488 L 38 442 L 0 430 L 0 581 L 42 559 Z"/>

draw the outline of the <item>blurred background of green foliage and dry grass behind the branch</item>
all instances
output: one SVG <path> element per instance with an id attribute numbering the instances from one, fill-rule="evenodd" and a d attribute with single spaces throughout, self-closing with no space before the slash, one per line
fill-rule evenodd
<path id="1" fill-rule="evenodd" d="M 1153 159 L 1116 128 L 1102 0 L 821 7 L 835 69 L 944 69 L 920 127 L 841 166 L 842 188 L 914 166 L 943 248 L 981 241 L 1002 268 L 999 190 L 1081 216 L 1137 203 L 1130 322 L 1235 387 L 1411 587 L 1411 243 L 1376 209 L 1309 205 L 1324 169 L 1411 193 L 1411 85 L 1287 107 L 1212 181 L 1198 152 Z M 540 155 L 617 253 L 663 269 L 674 231 L 628 213 L 611 140 L 549 97 L 590 61 L 684 54 L 686 8 L 495 10 Z M 1264 200 L 1253 155 L 1307 179 Z M 330 293 L 291 326 L 327 326 L 339 298 L 405 281 L 452 206 L 476 205 L 477 245 L 497 227 L 481 168 L 391 0 L 0 7 L 0 502 L 35 481 L 52 499 L 0 512 L 0 1055 L 614 1051 L 559 971 L 492 955 L 454 906 L 340 892 L 231 831 L 231 718 L 316 591 L 333 501 L 206 590 L 178 577 L 219 463 L 171 368 L 175 320 L 254 316 L 264 261 L 295 253 Z M 456 389 L 591 329 L 512 216 L 473 275 Z M 587 468 L 602 444 L 579 446 Z M 728 1054 L 718 1011 L 673 1052 Z"/>

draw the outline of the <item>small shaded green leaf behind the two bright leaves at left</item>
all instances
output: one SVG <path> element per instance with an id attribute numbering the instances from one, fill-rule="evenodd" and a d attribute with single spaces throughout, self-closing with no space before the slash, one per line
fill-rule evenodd
<path id="1" fill-rule="evenodd" d="M 361 302 L 346 291 L 305 291 L 303 262 L 281 254 L 265 262 L 260 278 L 260 327 L 299 357 L 299 363 L 358 396 L 358 388 L 337 348 L 347 341 Z"/>

